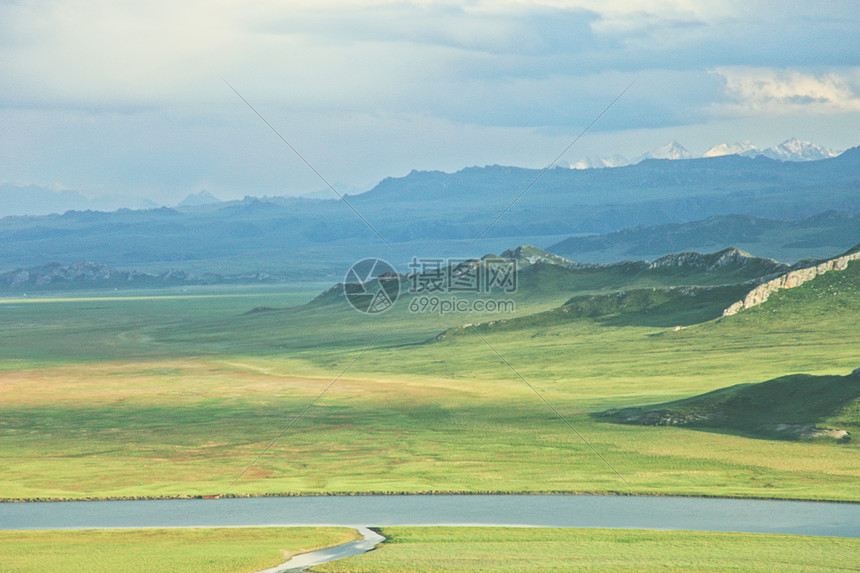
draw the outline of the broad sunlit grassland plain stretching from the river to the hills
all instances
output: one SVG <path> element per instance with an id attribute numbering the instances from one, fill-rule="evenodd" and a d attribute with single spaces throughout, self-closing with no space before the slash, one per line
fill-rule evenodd
<path id="1" fill-rule="evenodd" d="M 593 416 L 791 373 L 845 375 L 860 366 L 858 290 L 855 262 L 679 330 L 670 325 L 686 323 L 636 319 L 646 305 L 538 316 L 523 328 L 496 322 L 435 342 L 507 315 L 415 314 L 407 297 L 367 316 L 342 300 L 300 304 L 316 291 L 276 289 L 6 300 L 0 498 L 564 491 L 860 501 L 860 440 Z M 511 297 L 524 316 L 570 293 Z M 274 310 L 249 312 L 258 307 Z"/>

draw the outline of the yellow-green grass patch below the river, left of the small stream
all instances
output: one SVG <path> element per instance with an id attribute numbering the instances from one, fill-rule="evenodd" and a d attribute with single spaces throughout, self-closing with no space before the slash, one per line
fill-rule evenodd
<path id="1" fill-rule="evenodd" d="M 0 571 L 251 573 L 360 538 L 343 527 L 0 531 Z"/>

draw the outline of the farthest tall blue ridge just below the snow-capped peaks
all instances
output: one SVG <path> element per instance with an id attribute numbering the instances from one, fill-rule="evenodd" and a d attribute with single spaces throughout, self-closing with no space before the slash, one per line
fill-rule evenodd
<path id="1" fill-rule="evenodd" d="M 568 205 L 609 209 L 650 201 L 661 204 L 681 199 L 703 201 L 715 194 L 731 203 L 735 194 L 745 195 L 749 201 L 750 192 L 767 195 L 801 187 L 807 190 L 824 185 L 844 187 L 849 182 L 857 184 L 860 179 L 849 173 L 846 180 L 843 172 L 846 162 L 860 165 L 860 153 L 856 149 L 835 158 L 811 162 L 729 155 L 686 161 L 651 159 L 614 169 L 555 168 L 546 171 L 521 201 L 535 204 L 540 199 L 555 204 L 564 199 Z M 505 205 L 505 200 L 513 200 L 539 173 L 539 170 L 501 165 L 469 167 L 454 173 L 412 171 L 404 177 L 386 178 L 351 200 L 356 205 L 416 200 L 458 205 L 496 200 Z M 818 199 L 820 201 L 821 197 Z M 816 212 L 821 210 L 818 208 Z"/>

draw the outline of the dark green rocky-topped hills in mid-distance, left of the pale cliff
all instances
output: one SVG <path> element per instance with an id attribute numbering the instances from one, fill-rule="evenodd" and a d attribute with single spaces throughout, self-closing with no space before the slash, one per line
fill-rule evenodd
<path id="1" fill-rule="evenodd" d="M 616 326 L 688 326 L 718 318 L 766 277 L 790 269 L 734 248 L 609 265 L 571 263 L 528 245 L 506 254 L 526 264 L 519 272 L 515 300 L 546 303 L 569 298 L 542 312 L 521 312 L 474 326 L 481 331 L 542 328 L 578 319 Z M 436 339 L 464 330 L 455 327 Z"/>

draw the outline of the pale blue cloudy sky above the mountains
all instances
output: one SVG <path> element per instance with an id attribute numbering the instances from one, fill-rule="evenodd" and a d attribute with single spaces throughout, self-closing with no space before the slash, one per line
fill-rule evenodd
<path id="1" fill-rule="evenodd" d="M 0 0 L 0 183 L 175 204 L 860 144 L 860 2 Z M 229 85 L 228 85 L 229 83 Z M 632 84 L 632 85 L 631 85 Z"/>

